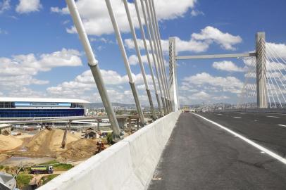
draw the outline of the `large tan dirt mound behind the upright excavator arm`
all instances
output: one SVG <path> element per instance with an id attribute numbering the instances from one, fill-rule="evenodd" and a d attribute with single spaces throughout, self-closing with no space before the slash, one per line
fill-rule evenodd
<path id="1" fill-rule="evenodd" d="M 61 142 L 63 141 L 64 131 L 62 129 L 48 130 L 44 129 L 36 134 L 30 142 L 26 144 L 28 151 L 34 151 L 44 155 L 50 155 L 56 151 L 63 151 L 61 148 Z M 68 132 L 66 144 L 77 141 L 79 138 L 74 134 Z"/>

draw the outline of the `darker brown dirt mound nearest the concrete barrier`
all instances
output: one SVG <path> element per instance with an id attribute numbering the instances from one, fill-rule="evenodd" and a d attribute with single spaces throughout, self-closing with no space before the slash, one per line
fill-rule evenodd
<path id="1" fill-rule="evenodd" d="M 81 160 L 94 156 L 97 151 L 97 140 L 80 139 L 68 144 L 67 151 L 60 154 L 61 160 Z"/>

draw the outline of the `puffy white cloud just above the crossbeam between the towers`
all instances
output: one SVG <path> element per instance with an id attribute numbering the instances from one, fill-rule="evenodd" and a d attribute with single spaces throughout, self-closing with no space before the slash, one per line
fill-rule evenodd
<path id="1" fill-rule="evenodd" d="M 240 36 L 233 36 L 229 33 L 223 33 L 215 27 L 205 27 L 200 33 L 192 34 L 192 39 L 199 41 L 216 42 L 223 49 L 235 50 L 234 45 L 242 42 Z"/>

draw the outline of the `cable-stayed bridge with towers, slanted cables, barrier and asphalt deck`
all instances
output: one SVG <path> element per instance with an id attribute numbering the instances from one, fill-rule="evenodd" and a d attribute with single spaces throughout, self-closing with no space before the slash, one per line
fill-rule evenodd
<path id="1" fill-rule="evenodd" d="M 120 139 L 118 121 L 75 1 L 66 0 L 118 142 L 40 189 L 286 189 L 286 117 L 269 113 L 271 108 L 285 107 L 286 63 L 266 43 L 266 34 L 256 34 L 254 52 L 201 56 L 177 55 L 175 38 L 170 38 L 167 71 L 154 0 L 135 0 L 151 73 L 148 81 L 134 20 L 128 1 L 123 0 L 154 120 L 146 125 L 112 1 L 105 1 L 142 129 Z M 198 58 L 245 59 L 248 70 L 237 112 L 180 111 L 176 61 Z M 154 91 L 149 84 L 154 85 Z M 249 113 L 242 108 L 256 109 Z"/>

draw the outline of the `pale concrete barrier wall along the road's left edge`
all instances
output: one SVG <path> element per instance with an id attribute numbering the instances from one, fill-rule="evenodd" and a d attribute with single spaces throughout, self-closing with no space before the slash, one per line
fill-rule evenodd
<path id="1" fill-rule="evenodd" d="M 170 113 L 139 129 L 39 190 L 147 189 L 180 113 Z"/>

